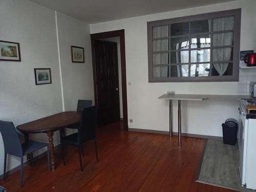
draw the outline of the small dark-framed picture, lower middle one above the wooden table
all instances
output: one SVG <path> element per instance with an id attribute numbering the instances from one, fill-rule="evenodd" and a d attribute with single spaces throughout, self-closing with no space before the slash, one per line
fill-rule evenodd
<path id="1" fill-rule="evenodd" d="M 50 84 L 52 83 L 50 68 L 35 68 L 35 84 Z"/>

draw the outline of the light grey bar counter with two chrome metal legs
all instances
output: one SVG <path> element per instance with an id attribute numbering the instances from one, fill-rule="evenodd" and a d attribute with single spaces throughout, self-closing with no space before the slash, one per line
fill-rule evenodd
<path id="1" fill-rule="evenodd" d="M 178 137 L 179 146 L 181 146 L 181 100 L 186 101 L 203 101 L 206 99 L 218 100 L 240 100 L 251 99 L 251 96 L 246 95 L 193 95 L 193 94 L 164 94 L 158 97 L 159 99 L 169 100 L 169 135 L 173 135 L 173 100 L 178 100 Z"/>

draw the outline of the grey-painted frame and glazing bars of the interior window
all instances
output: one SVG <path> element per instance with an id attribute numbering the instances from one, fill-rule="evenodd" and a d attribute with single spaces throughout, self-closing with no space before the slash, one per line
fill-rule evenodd
<path id="1" fill-rule="evenodd" d="M 234 28 L 233 28 L 233 60 L 232 62 L 232 75 L 227 76 L 193 76 L 193 77 L 153 77 L 153 27 L 168 25 L 169 26 L 169 35 L 168 37 L 164 37 L 165 39 L 169 39 L 168 41 L 168 53 L 170 52 L 170 25 L 176 23 L 184 23 L 184 22 L 194 22 L 197 20 L 206 20 L 211 19 L 211 31 L 208 32 L 210 34 L 211 44 L 208 49 L 210 49 L 210 62 L 212 63 L 212 34 L 220 33 L 220 32 L 228 32 L 228 30 L 223 31 L 213 31 L 212 30 L 212 21 L 214 18 L 219 17 L 227 17 L 227 16 L 234 16 Z M 232 9 L 227 11 L 219 11 L 219 12 L 211 12 L 211 13 L 204 13 L 204 14 L 197 14 L 191 16 L 184 16 L 184 17 L 176 17 L 170 19 L 163 19 L 163 20 L 155 20 L 152 22 L 147 22 L 147 50 L 148 50 L 148 82 L 218 82 L 218 81 L 238 81 L 239 80 L 239 60 L 240 60 L 240 28 L 241 28 L 241 9 Z M 189 23 L 189 30 L 190 30 L 190 23 Z M 207 33 L 207 32 L 206 32 Z M 206 34 L 205 33 L 205 34 Z M 189 61 L 190 61 L 190 42 L 191 42 L 191 34 L 189 31 Z M 197 33 L 198 34 L 198 33 Z M 161 38 L 160 38 L 161 39 Z M 219 46 L 221 48 L 225 46 Z M 230 47 L 230 46 L 228 46 Z M 218 47 L 214 47 L 218 48 Z M 185 50 L 184 50 L 185 51 Z M 170 58 L 169 58 L 170 61 Z M 208 63 L 210 63 L 208 62 Z M 221 61 L 220 61 L 221 62 Z M 198 62 L 197 62 L 198 63 Z M 204 64 L 206 62 L 202 62 Z M 176 64 L 181 65 L 182 63 Z M 188 64 L 190 67 L 191 62 L 184 63 Z M 201 63 L 198 63 L 201 64 Z M 156 65 L 155 65 L 156 66 Z M 161 65 L 158 65 L 161 66 Z M 170 62 L 168 65 L 162 66 L 170 66 Z"/>

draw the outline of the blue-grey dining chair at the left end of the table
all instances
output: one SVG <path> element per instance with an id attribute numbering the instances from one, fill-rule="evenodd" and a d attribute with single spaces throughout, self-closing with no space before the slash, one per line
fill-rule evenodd
<path id="1" fill-rule="evenodd" d="M 40 148 L 47 147 L 47 157 L 48 157 L 48 168 L 50 171 L 50 161 L 49 161 L 49 145 L 48 143 L 40 143 L 36 141 L 27 141 L 23 144 L 20 143 L 17 131 L 13 122 L 0 121 L 0 133 L 4 141 L 4 180 L 6 178 L 6 160 L 7 154 L 20 157 L 20 187 L 23 187 L 23 156 L 28 154 L 33 154 L 33 152 L 39 150 Z"/>

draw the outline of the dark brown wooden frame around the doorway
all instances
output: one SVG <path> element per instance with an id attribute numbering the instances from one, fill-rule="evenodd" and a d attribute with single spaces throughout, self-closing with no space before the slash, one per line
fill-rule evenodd
<path id="1" fill-rule="evenodd" d="M 116 31 L 108 31 L 102 33 L 91 34 L 92 44 L 92 63 L 93 63 L 93 81 L 94 81 L 94 99 L 97 105 L 97 89 L 96 89 L 96 63 L 94 41 L 102 38 L 120 37 L 120 56 L 121 56 L 121 81 L 122 81 L 122 103 L 123 103 L 123 126 L 124 130 L 128 131 L 128 117 L 127 117 L 127 90 L 126 90 L 126 63 L 125 63 L 125 39 L 124 29 Z"/>

